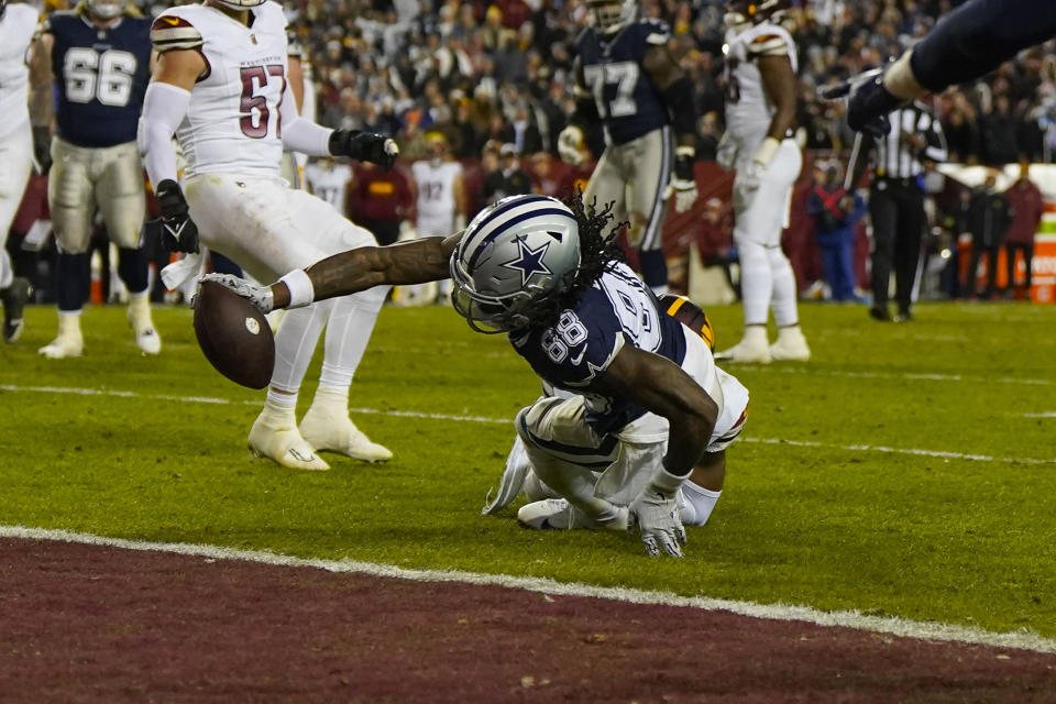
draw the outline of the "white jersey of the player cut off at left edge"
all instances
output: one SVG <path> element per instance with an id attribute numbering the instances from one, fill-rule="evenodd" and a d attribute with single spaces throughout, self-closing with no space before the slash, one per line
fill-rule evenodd
<path id="1" fill-rule="evenodd" d="M 9 4 L 0 16 L 0 138 L 30 121 L 30 42 L 37 11 L 28 4 Z"/>

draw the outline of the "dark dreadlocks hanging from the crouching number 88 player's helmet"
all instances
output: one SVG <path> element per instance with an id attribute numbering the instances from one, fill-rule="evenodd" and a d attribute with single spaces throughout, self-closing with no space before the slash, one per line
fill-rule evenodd
<path id="1" fill-rule="evenodd" d="M 626 261 L 623 248 L 616 242 L 616 234 L 629 223 L 615 221 L 613 201 L 598 211 L 597 198 L 587 205 L 583 201 L 583 191 L 578 189 L 562 202 L 572 210 L 579 228 L 580 266 L 565 274 L 565 286 L 560 296 L 539 301 L 529 321 L 531 327 L 556 322 L 563 310 L 575 308 L 583 292 L 593 286 L 603 272 L 617 262 Z"/>

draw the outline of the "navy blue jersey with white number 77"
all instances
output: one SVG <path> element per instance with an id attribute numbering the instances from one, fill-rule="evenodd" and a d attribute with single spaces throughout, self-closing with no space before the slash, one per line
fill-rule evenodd
<path id="1" fill-rule="evenodd" d="M 625 144 L 671 121 L 642 66 L 649 47 L 667 44 L 670 36 L 663 22 L 637 20 L 612 38 L 586 28 L 576 40 L 584 88 L 594 96 L 610 144 Z"/>

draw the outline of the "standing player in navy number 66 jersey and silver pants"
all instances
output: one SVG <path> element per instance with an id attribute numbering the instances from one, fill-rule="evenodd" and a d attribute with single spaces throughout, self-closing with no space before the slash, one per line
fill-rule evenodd
<path id="1" fill-rule="evenodd" d="M 143 165 L 135 129 L 151 70 L 150 20 L 123 0 L 82 0 L 41 24 L 33 48 L 34 139 L 50 157 L 47 202 L 58 242 L 58 336 L 40 353 L 80 356 L 80 314 L 88 290 L 88 250 L 96 210 L 118 245 L 118 274 L 129 289 L 129 324 L 145 354 L 162 340 L 151 320 Z M 57 87 L 56 133 L 52 85 Z M 48 154 L 48 143 L 51 153 Z"/>

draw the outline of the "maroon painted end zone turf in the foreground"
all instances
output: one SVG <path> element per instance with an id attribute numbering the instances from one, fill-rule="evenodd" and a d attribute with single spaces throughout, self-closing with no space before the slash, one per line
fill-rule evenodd
<path id="1" fill-rule="evenodd" d="M 0 539 L 0 702 L 1056 702 L 1056 656 Z"/>

